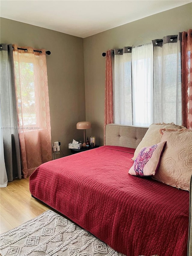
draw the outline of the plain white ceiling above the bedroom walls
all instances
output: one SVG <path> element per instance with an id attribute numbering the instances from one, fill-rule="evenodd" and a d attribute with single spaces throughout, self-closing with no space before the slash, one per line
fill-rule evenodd
<path id="1" fill-rule="evenodd" d="M 85 38 L 192 0 L 0 1 L 0 16 Z"/>

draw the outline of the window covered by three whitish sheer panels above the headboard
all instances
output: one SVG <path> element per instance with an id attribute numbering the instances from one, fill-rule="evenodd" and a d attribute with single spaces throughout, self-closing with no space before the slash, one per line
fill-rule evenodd
<path id="1" fill-rule="evenodd" d="M 149 43 L 132 47 L 131 53 L 118 55 L 120 51 L 115 50 L 115 123 L 137 126 L 159 122 L 182 124 L 181 42 L 176 39 L 160 41 L 161 45 Z M 126 61 L 124 55 L 129 56 Z"/>

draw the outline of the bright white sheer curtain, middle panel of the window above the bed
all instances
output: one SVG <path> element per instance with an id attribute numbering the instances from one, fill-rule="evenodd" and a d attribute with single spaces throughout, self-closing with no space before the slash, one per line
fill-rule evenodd
<path id="1" fill-rule="evenodd" d="M 153 109 L 153 44 L 132 47 L 133 125 L 149 126 Z"/>

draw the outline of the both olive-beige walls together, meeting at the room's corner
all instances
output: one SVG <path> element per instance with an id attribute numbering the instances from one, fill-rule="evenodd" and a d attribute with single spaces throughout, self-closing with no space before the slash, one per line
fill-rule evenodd
<path id="1" fill-rule="evenodd" d="M 103 145 L 105 57 L 101 54 L 186 31 L 192 26 L 191 17 L 192 3 L 84 39 L 1 18 L 0 40 L 51 51 L 46 58 L 51 137 L 52 142 L 61 141 L 68 155 L 68 143 L 83 139 L 76 122 L 85 120 L 85 110 L 92 123 L 87 135 L 95 135 L 96 143 Z"/>

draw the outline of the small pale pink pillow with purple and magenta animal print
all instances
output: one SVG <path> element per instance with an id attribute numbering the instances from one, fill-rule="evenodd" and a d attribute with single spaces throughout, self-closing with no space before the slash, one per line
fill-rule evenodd
<path id="1" fill-rule="evenodd" d="M 137 176 L 151 176 L 159 168 L 161 155 L 164 150 L 166 141 L 162 141 L 153 146 L 144 147 L 140 150 L 129 174 Z"/>

